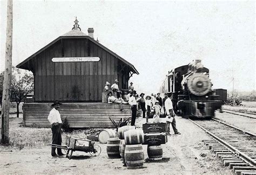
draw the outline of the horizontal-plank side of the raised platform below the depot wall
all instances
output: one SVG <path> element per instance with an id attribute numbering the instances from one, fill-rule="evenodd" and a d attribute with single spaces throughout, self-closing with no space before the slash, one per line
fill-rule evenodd
<path id="1" fill-rule="evenodd" d="M 23 124 L 25 127 L 50 127 L 47 118 L 51 103 L 24 103 Z M 63 103 L 59 113 L 62 121 L 66 118 L 70 128 L 114 128 L 109 117 L 116 123 L 120 118 L 131 117 L 129 104 L 109 103 Z"/>

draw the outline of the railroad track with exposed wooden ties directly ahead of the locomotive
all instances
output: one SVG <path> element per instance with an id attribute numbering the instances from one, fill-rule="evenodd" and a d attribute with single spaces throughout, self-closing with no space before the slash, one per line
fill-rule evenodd
<path id="1" fill-rule="evenodd" d="M 230 166 L 235 174 L 256 174 L 256 135 L 215 118 L 190 121 L 213 137 L 204 143 L 225 166 Z"/>

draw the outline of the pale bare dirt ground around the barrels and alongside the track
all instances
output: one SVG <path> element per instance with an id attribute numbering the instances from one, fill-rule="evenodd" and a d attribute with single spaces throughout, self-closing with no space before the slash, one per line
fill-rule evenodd
<path id="1" fill-rule="evenodd" d="M 15 122 L 12 127 L 18 125 L 17 120 L 21 121 L 11 121 Z M 120 159 L 109 159 L 106 144 L 97 142 L 102 148 L 99 156 L 90 157 L 89 153 L 77 151 L 71 160 L 65 156 L 51 157 L 49 146 L 22 150 L 0 146 L 0 150 L 12 150 L 0 152 L 1 174 L 232 174 L 202 142 L 211 139 L 204 131 L 184 118 L 176 117 L 176 120 L 181 135 L 168 136 L 168 142 L 162 145 L 163 162 L 144 163 L 143 169 L 128 170 Z M 138 120 L 137 124 L 143 122 Z M 146 145 L 143 149 L 146 159 Z M 201 157 L 201 153 L 206 156 Z"/>

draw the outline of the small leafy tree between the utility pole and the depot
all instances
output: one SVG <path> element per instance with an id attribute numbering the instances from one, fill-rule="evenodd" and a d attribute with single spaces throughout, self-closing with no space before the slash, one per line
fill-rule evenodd
<path id="1" fill-rule="evenodd" d="M 26 95 L 33 91 L 33 74 L 29 71 L 21 72 L 21 69 L 12 67 L 10 96 L 11 101 L 17 104 L 17 117 L 19 117 L 19 103 Z"/>

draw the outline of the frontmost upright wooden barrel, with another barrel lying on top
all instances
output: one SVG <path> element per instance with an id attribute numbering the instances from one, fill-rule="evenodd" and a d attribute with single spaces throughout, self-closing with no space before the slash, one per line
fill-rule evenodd
<path id="1" fill-rule="evenodd" d="M 125 145 L 124 159 L 127 169 L 139 169 L 143 167 L 144 152 L 142 144 Z"/>

